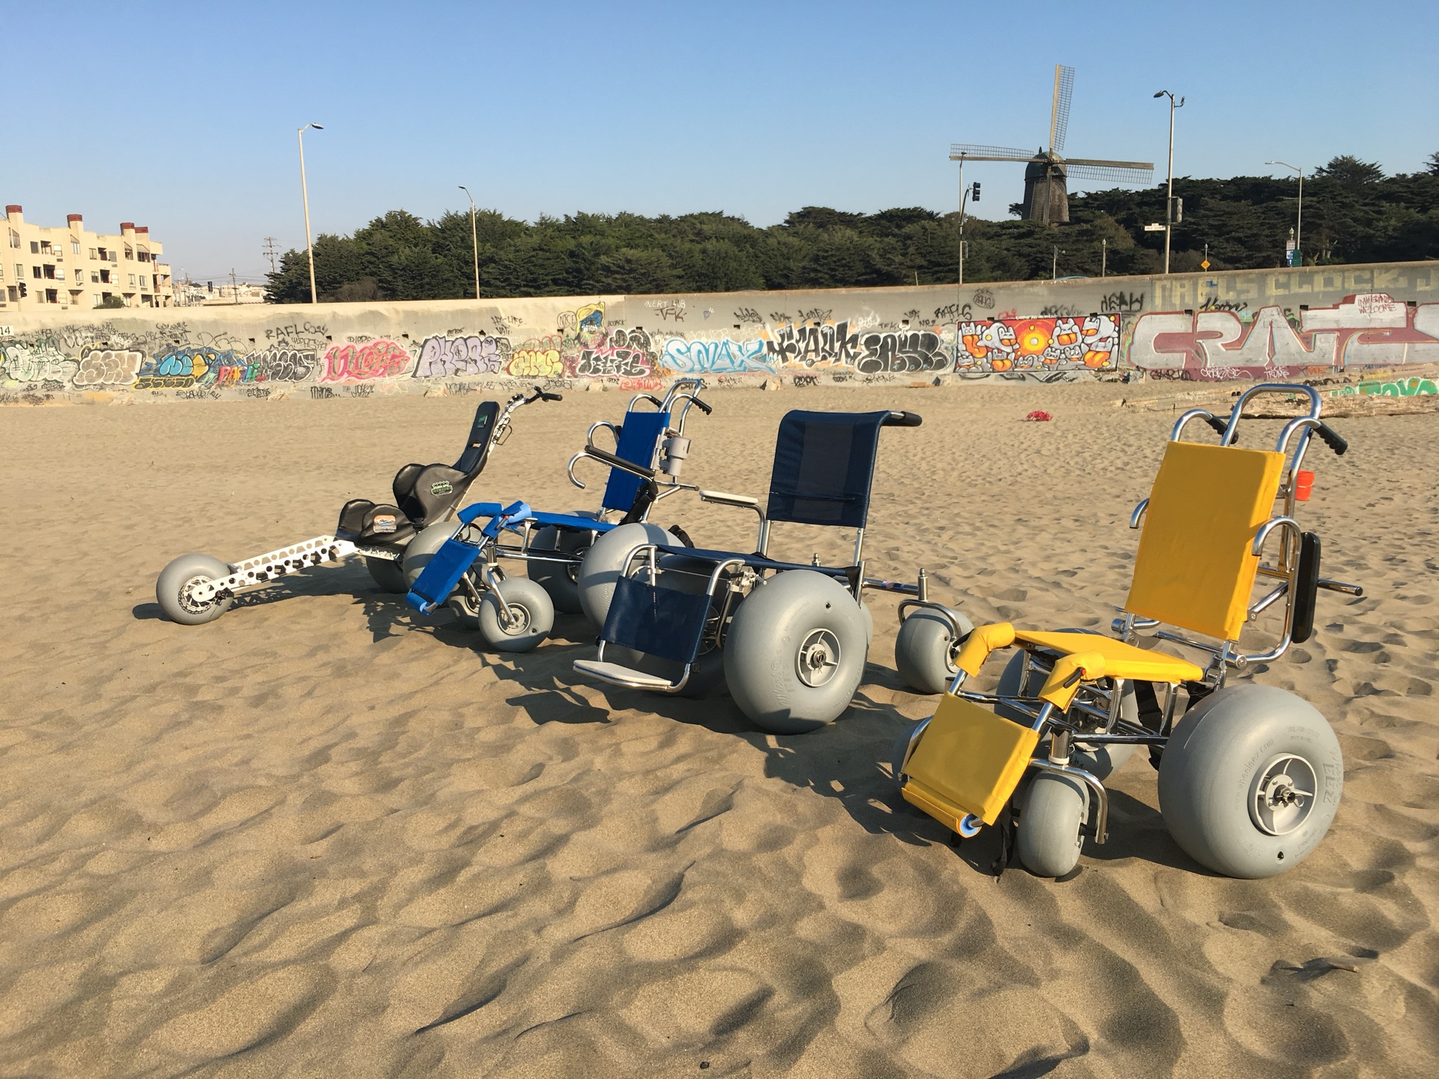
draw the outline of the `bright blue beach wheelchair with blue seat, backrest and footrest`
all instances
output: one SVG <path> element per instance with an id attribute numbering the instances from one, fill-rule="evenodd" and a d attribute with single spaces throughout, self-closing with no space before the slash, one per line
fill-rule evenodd
<path id="1" fill-rule="evenodd" d="M 570 459 L 567 472 L 570 482 L 583 489 L 584 482 L 574 475 L 580 460 L 609 466 L 597 511 L 551 514 L 522 501 L 476 502 L 452 522 L 429 528 L 404 555 L 406 603 L 422 614 L 448 606 L 499 652 L 535 647 L 554 627 L 555 611 L 583 610 L 578 568 L 596 540 L 623 525 L 646 528 L 640 522 L 648 521 L 655 504 L 695 489 L 679 482 L 679 473 L 691 447 L 685 436 L 689 409 L 712 411 L 699 399 L 702 388 L 702 380 L 682 378 L 663 400 L 636 394 L 620 424 L 600 422 L 589 429 L 584 449 Z M 614 437 L 613 450 L 594 445 L 600 430 Z M 672 528 L 679 535 L 648 528 L 643 535 L 681 542 L 678 527 Z M 522 561 L 528 575 L 507 575 L 502 560 Z"/>

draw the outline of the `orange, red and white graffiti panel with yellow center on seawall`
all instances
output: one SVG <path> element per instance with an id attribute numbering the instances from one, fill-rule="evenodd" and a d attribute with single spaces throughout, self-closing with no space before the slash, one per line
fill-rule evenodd
<path id="1" fill-rule="evenodd" d="M 1120 319 L 996 318 L 960 322 L 957 337 L 954 370 L 961 373 L 1105 371 L 1118 364 Z"/>

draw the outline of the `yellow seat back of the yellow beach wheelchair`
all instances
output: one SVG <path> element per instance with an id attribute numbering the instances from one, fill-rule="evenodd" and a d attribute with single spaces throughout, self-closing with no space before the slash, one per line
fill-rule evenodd
<path id="1" fill-rule="evenodd" d="M 1154 478 L 1124 609 L 1238 640 L 1259 560 L 1255 534 L 1274 511 L 1284 455 L 1171 442 Z"/>

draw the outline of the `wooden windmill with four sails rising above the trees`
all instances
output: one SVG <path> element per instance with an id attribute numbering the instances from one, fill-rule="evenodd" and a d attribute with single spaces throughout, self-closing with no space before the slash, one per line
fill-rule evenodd
<path id="1" fill-rule="evenodd" d="M 1049 112 L 1049 151 L 1033 154 L 1010 147 L 984 147 L 970 142 L 950 145 L 950 160 L 960 163 L 960 187 L 964 186 L 966 161 L 1027 161 L 1025 167 L 1025 204 L 1020 216 L 1058 224 L 1069 220 L 1066 181 L 1104 180 L 1114 184 L 1148 184 L 1154 178 L 1153 161 L 1104 161 L 1092 157 L 1063 157 L 1069 131 L 1069 98 L 1075 89 L 1075 69 L 1055 65 L 1055 99 Z"/>

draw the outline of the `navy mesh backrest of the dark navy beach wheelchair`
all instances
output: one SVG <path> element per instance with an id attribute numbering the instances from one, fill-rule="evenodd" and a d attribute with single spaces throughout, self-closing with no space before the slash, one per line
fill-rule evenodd
<path id="1" fill-rule="evenodd" d="M 863 528 L 888 411 L 791 411 L 780 420 L 770 521 Z"/>

